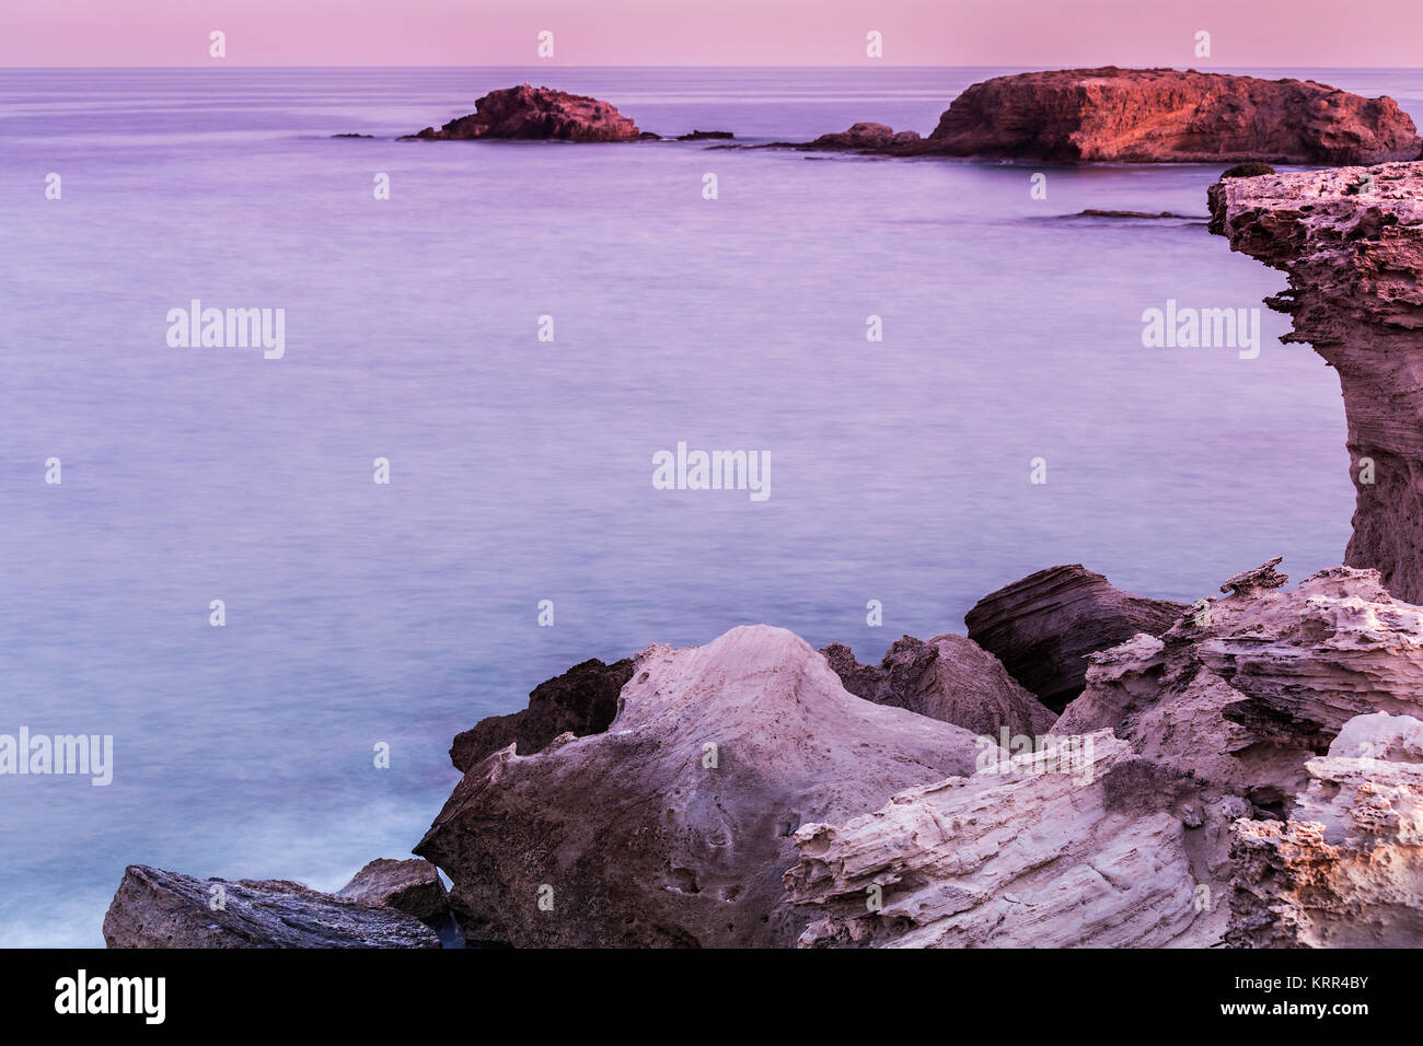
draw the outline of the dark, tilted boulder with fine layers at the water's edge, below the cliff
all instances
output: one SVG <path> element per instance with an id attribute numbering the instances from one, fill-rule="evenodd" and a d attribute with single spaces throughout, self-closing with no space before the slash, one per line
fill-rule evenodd
<path id="1" fill-rule="evenodd" d="M 1081 564 L 1049 566 L 978 601 L 963 616 L 969 639 L 1049 709 L 1081 693 L 1087 655 L 1131 639 L 1160 635 L 1184 603 L 1134 596 Z"/>

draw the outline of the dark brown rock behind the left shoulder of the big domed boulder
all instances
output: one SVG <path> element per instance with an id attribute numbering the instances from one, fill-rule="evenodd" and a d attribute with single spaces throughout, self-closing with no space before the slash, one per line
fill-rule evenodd
<path id="1" fill-rule="evenodd" d="M 450 761 L 465 773 L 481 759 L 517 747 L 532 756 L 562 733 L 576 737 L 602 733 L 618 713 L 618 693 L 632 679 L 632 659 L 603 665 L 593 657 L 575 665 L 562 676 L 545 680 L 529 693 L 527 709 L 508 716 L 481 719 L 455 734 Z"/>

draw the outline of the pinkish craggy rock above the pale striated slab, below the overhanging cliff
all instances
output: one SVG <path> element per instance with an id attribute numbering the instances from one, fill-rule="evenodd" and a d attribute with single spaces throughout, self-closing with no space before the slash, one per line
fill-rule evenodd
<path id="1" fill-rule="evenodd" d="M 1423 714 L 1423 609 L 1350 566 L 1285 591 L 1276 562 L 1231 578 L 1160 639 L 1096 655 L 1053 733 L 1111 727 L 1190 773 L 1202 803 L 1239 796 L 1284 817 L 1305 761 L 1350 719 Z"/>

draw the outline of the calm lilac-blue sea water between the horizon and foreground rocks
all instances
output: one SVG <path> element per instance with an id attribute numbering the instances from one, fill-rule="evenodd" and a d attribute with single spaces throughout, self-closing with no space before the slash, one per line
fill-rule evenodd
<path id="1" fill-rule="evenodd" d="M 522 80 L 663 134 L 928 132 L 998 71 L 0 71 L 0 733 L 115 739 L 110 787 L 0 778 L 0 944 L 101 944 L 129 862 L 404 855 L 450 737 L 585 657 L 766 620 L 872 659 L 1050 564 L 1190 599 L 1338 562 L 1338 381 L 1286 320 L 1141 346 L 1282 276 L 1067 218 L 1204 216 L 1218 167 L 393 141 Z M 1295 74 L 1423 122 L 1419 73 Z M 169 349 L 195 297 L 283 307 L 285 359 Z M 768 451 L 771 498 L 655 491 L 679 440 Z"/>

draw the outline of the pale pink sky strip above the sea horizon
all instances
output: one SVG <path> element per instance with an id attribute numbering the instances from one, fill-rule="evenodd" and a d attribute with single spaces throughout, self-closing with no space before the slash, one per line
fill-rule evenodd
<path id="1" fill-rule="evenodd" d="M 0 0 L 0 65 L 1417 65 L 1423 0 Z M 1194 53 L 1197 30 L 1212 54 Z"/>

